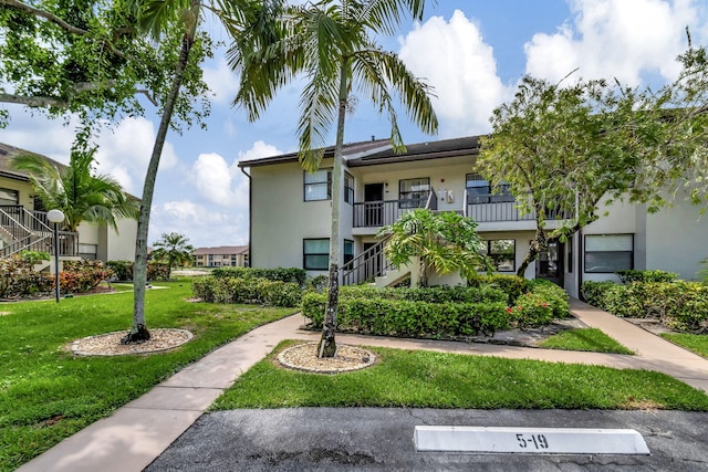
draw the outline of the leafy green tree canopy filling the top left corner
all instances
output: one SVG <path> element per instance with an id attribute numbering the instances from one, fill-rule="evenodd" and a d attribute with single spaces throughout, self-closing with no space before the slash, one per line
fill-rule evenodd
<path id="1" fill-rule="evenodd" d="M 169 29 L 169 36 L 156 44 L 135 24 L 125 0 L 0 0 L 0 102 L 50 117 L 79 116 L 84 126 L 143 115 L 145 98 L 162 107 L 179 53 L 179 30 Z M 188 125 L 208 113 L 194 102 L 208 90 L 198 64 L 210 48 L 202 36 L 187 67 L 188 93 L 177 97 L 178 116 Z M 8 119 L 6 111 L 0 127 Z"/>

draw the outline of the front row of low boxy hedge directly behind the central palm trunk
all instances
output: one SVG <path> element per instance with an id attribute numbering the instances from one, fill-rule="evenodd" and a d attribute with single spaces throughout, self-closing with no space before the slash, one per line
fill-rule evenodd
<path id="1" fill-rule="evenodd" d="M 322 326 L 326 295 L 308 293 L 302 314 Z M 337 331 L 377 336 L 459 338 L 509 326 L 503 303 L 428 303 L 395 298 L 340 298 Z"/>

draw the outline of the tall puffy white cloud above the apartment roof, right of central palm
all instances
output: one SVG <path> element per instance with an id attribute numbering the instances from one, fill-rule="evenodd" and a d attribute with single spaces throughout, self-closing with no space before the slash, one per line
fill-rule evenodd
<path id="1" fill-rule="evenodd" d="M 456 10 L 449 22 L 433 17 L 400 40 L 400 59 L 435 87 L 441 137 L 489 130 L 491 111 L 510 91 L 497 75 L 492 48 L 479 27 Z"/>

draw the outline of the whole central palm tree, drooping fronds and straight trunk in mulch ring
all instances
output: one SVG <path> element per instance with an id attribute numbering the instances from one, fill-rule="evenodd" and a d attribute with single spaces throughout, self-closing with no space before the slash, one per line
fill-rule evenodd
<path id="1" fill-rule="evenodd" d="M 425 133 L 437 132 L 429 87 L 416 78 L 395 53 L 382 50 L 374 41 L 378 34 L 393 34 L 408 12 L 420 20 L 424 4 L 424 0 L 321 0 L 304 7 L 290 7 L 279 18 L 279 41 L 253 50 L 244 48 L 242 42 L 235 42 L 229 51 L 231 67 L 241 74 L 235 103 L 247 109 L 251 120 L 258 119 L 280 87 L 299 73 L 308 77 L 300 98 L 298 125 L 299 157 L 305 170 L 319 168 L 330 130 L 336 123 L 327 305 L 320 357 L 333 357 L 336 352 L 342 150 L 350 94 L 356 87 L 382 113 L 388 114 L 391 144 L 397 151 L 404 151 L 405 147 L 392 90 L 397 92 L 408 116 Z M 250 36 L 241 40 L 253 41 Z"/>

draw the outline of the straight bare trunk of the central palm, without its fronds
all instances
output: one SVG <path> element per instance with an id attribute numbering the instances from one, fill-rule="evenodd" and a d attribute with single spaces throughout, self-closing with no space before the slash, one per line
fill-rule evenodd
<path id="1" fill-rule="evenodd" d="M 327 283 L 327 304 L 322 325 L 322 337 L 317 347 L 319 357 L 334 357 L 336 354 L 336 313 L 340 303 L 340 210 L 342 208 L 342 150 L 344 148 L 344 118 L 348 91 L 348 69 L 346 61 L 342 65 L 340 77 L 340 111 L 336 124 L 336 144 L 334 145 L 334 167 L 332 169 L 332 227 L 330 230 L 330 280 Z"/>

